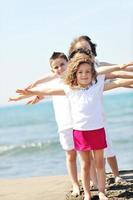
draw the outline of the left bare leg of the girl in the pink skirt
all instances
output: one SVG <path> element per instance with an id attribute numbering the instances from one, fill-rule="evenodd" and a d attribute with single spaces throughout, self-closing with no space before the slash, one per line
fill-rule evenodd
<path id="1" fill-rule="evenodd" d="M 91 200 L 90 193 L 90 152 L 80 151 L 81 179 L 84 190 L 84 200 Z"/>

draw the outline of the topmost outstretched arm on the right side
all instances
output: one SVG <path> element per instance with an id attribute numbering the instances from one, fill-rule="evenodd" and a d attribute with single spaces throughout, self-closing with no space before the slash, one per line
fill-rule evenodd
<path id="1" fill-rule="evenodd" d="M 111 66 L 101 66 L 96 69 L 98 74 L 107 74 L 109 72 L 117 71 L 117 70 L 124 70 L 129 66 L 133 66 L 133 62 L 128 64 L 120 64 L 120 65 L 111 65 Z"/>

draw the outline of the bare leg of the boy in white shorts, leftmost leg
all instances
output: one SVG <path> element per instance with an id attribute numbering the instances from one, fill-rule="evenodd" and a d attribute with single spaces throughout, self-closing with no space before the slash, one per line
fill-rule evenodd
<path id="1" fill-rule="evenodd" d="M 68 171 L 70 180 L 72 182 L 73 196 L 80 194 L 78 175 L 77 175 L 76 157 L 77 157 L 77 153 L 75 150 L 66 151 L 66 165 L 67 165 L 67 171 Z"/>

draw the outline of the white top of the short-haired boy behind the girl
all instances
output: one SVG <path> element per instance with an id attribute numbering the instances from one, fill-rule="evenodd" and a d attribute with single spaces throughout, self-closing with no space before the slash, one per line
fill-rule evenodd
<path id="1" fill-rule="evenodd" d="M 52 88 L 64 88 L 61 78 L 52 81 Z M 58 131 L 72 128 L 70 103 L 67 96 L 52 96 Z"/>

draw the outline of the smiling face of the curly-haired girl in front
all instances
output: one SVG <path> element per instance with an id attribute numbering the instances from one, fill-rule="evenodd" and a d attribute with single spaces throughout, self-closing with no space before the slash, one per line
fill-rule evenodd
<path id="1" fill-rule="evenodd" d="M 92 70 L 88 63 L 80 64 L 76 73 L 77 83 L 80 87 L 87 87 L 92 82 Z"/>

